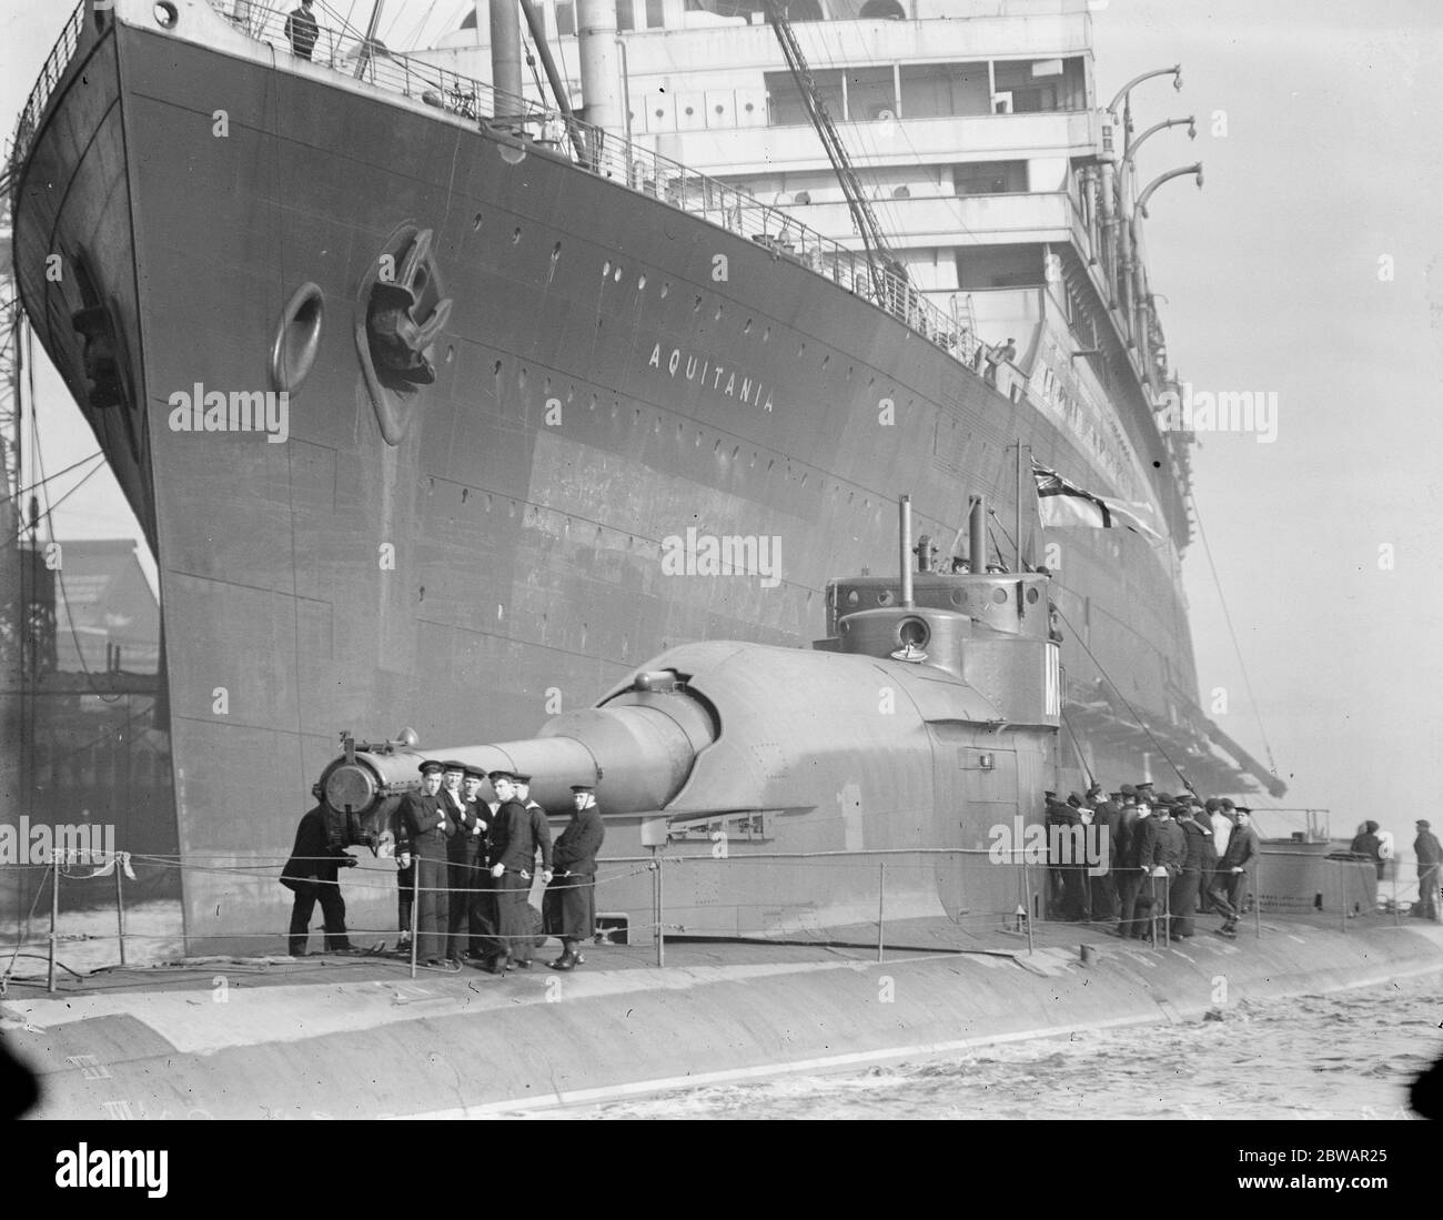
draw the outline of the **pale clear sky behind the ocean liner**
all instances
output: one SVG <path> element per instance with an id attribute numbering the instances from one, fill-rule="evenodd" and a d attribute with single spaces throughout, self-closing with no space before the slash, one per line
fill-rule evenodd
<path id="1" fill-rule="evenodd" d="M 0 0 L 6 137 L 69 7 Z M 466 7 L 392 0 L 380 32 L 410 45 Z M 1182 92 L 1166 78 L 1134 91 L 1137 130 L 1198 117 L 1193 143 L 1173 128 L 1139 153 L 1140 182 L 1205 166 L 1202 191 L 1167 183 L 1143 222 L 1173 367 L 1196 391 L 1277 396 L 1274 440 L 1215 433 L 1193 452 L 1218 576 L 1196 540 L 1183 578 L 1201 703 L 1276 761 L 1289 793 L 1258 806 L 1329 809 L 1335 835 L 1371 817 L 1405 848 L 1437 804 L 1416 793 L 1443 736 L 1443 6 L 1092 7 L 1100 101 L 1180 61 Z M 38 397 L 48 471 L 95 452 L 53 374 Z M 140 536 L 108 472 L 55 517 L 59 537 Z"/>

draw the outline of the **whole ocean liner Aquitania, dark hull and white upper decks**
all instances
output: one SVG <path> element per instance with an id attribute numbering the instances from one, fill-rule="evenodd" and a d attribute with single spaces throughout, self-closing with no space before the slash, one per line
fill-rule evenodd
<path id="1" fill-rule="evenodd" d="M 1237 785 L 1195 705 L 1146 277 L 1100 240 L 1115 133 L 1081 4 L 808 27 L 869 74 L 837 69 L 848 136 L 900 133 L 859 163 L 906 276 L 848 234 L 769 29 L 671 29 L 662 4 L 616 78 L 628 139 L 495 97 L 475 46 L 401 56 L 322 13 L 293 55 L 284 7 L 85 3 L 16 139 L 26 309 L 160 570 L 190 937 L 273 930 L 270 865 L 339 731 L 505 741 L 659 648 L 805 644 L 830 578 L 890 570 L 899 488 L 945 562 L 968 494 L 1030 500 L 1023 453 L 1163 533 L 1071 531 L 1051 565 L 1063 774 L 1166 742 Z M 683 77 L 746 121 L 685 127 Z M 1001 533 L 978 569 L 1026 557 Z M 1036 785 L 1003 761 L 999 800 Z"/>

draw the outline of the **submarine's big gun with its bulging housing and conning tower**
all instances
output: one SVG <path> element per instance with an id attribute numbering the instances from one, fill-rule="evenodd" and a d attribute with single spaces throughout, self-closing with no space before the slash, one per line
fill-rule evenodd
<path id="1" fill-rule="evenodd" d="M 683 644 L 532 738 L 427 751 L 407 739 L 356 745 L 322 775 L 328 806 L 381 832 L 420 785 L 420 762 L 453 758 L 531 774 L 532 800 L 553 814 L 570 809 L 573 784 L 595 784 L 608 855 L 681 850 L 719 835 L 733 858 L 986 849 L 996 824 L 1036 820 L 1053 785 L 1061 670 L 1049 578 L 986 565 L 980 498 L 973 554 L 987 570 L 934 570 L 925 540 L 913 570 L 909 507 L 903 498 L 900 573 L 831 580 L 828 635 L 812 650 Z M 889 910 L 1014 908 L 1013 869 L 929 859 L 889 881 Z M 759 860 L 745 879 L 729 875 L 726 897 L 690 872 L 693 931 L 768 934 L 798 920 L 859 917 L 837 860 L 830 871 Z M 668 882 L 668 908 L 671 899 L 688 901 Z M 606 894 L 597 901 L 615 905 Z M 646 910 L 649 897 L 622 905 Z"/>

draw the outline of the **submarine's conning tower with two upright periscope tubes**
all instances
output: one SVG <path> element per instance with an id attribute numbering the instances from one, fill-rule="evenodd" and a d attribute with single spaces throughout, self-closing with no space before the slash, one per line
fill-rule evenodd
<path id="1" fill-rule="evenodd" d="M 828 580 L 828 634 L 812 647 L 942 670 L 986 696 L 1009 723 L 1056 726 L 1062 667 L 1049 631 L 1049 575 L 987 562 L 983 497 L 973 497 L 970 513 L 973 562 L 935 567 L 925 534 L 912 546 L 908 497 L 900 517 L 899 575 Z"/>

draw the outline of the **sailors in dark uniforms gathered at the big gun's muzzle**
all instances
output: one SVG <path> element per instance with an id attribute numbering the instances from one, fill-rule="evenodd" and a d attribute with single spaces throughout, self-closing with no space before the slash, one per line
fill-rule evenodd
<path id="1" fill-rule="evenodd" d="M 540 934 L 561 940 L 561 956 L 548 964 L 580 966 L 580 947 L 596 931 L 596 856 L 606 837 L 595 787 L 571 785 L 571 820 L 553 843 L 545 810 L 530 798 L 530 775 L 434 759 L 421 762 L 420 772 L 420 791 L 403 798 L 392 823 L 403 946 L 414 927 L 413 951 L 426 966 L 455 972 L 470 959 L 494 975 L 530 969 L 538 940 L 530 895 L 540 875 Z M 495 801 L 481 797 L 486 781 Z M 304 956 L 317 901 L 326 949 L 349 950 L 336 871 L 354 863 L 332 846 L 319 806 L 302 819 L 281 873 L 281 884 L 296 892 L 291 956 Z"/>

